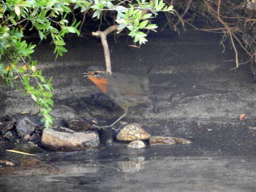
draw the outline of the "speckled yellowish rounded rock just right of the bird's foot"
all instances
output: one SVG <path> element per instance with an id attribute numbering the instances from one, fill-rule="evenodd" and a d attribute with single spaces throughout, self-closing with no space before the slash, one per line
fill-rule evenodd
<path id="1" fill-rule="evenodd" d="M 116 135 L 119 141 L 148 140 L 150 134 L 145 131 L 138 123 L 125 125 L 123 129 Z"/>

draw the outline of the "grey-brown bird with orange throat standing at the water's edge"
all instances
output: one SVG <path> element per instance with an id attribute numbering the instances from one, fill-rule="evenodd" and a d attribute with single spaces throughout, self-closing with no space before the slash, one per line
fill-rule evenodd
<path id="1" fill-rule="evenodd" d="M 127 115 L 128 108 L 148 100 L 150 93 L 148 74 L 153 66 L 150 67 L 146 76 L 124 73 L 112 73 L 110 75 L 101 67 L 96 66 L 91 66 L 87 68 L 85 73 L 82 73 L 84 77 L 89 78 L 104 94 L 124 110 L 124 114 L 111 125 L 95 127 L 98 129 L 111 127 L 113 129 L 113 126 Z"/>

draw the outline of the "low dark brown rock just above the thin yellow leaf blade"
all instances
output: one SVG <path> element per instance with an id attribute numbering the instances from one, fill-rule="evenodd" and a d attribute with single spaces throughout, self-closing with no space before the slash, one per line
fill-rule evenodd
<path id="1" fill-rule="evenodd" d="M 28 141 L 18 143 L 13 150 L 22 151 L 29 154 L 41 154 L 44 153 L 44 150 L 38 147 L 35 143 Z"/>

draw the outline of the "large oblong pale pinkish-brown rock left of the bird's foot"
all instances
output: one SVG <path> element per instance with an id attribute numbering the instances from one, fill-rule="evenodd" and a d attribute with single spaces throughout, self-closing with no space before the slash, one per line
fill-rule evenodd
<path id="1" fill-rule="evenodd" d="M 66 130 L 68 130 L 66 128 Z M 53 151 L 77 151 L 96 149 L 100 146 L 99 135 L 96 132 L 61 132 L 54 129 L 44 129 L 42 144 Z"/>

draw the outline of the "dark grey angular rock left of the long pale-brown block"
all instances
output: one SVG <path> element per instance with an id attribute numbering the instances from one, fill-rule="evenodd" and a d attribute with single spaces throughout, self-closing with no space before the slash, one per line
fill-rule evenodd
<path id="1" fill-rule="evenodd" d="M 34 132 L 36 124 L 31 122 L 27 117 L 19 119 L 16 124 L 16 130 L 19 137 L 24 137 L 27 134 Z"/>

